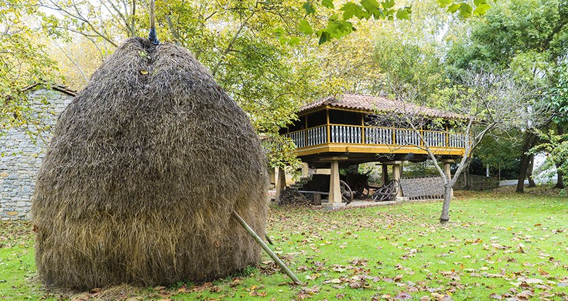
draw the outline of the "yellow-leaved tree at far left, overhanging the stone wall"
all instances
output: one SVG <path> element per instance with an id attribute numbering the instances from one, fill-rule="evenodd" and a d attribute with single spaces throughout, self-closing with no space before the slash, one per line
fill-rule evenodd
<path id="1" fill-rule="evenodd" d="M 40 14 L 34 1 L 7 0 L 0 3 L 0 135 L 11 127 L 23 127 L 30 137 L 41 131 L 45 112 L 32 105 L 25 88 L 48 85 L 56 79 L 56 62 L 49 59 L 34 16 Z M 45 99 L 36 99 L 43 101 Z"/>

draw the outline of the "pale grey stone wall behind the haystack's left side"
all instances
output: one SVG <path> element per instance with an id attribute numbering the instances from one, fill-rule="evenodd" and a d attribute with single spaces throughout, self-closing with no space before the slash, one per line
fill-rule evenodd
<path id="1" fill-rule="evenodd" d="M 56 116 L 73 100 L 58 90 L 39 89 L 30 96 L 34 109 L 44 113 L 45 125 L 54 125 Z M 30 218 L 36 176 L 51 132 L 44 131 L 34 142 L 26 131 L 34 130 L 20 127 L 0 134 L 0 220 Z"/>

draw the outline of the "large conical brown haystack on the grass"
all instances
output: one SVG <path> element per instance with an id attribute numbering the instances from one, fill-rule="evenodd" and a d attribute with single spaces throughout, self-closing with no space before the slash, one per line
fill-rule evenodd
<path id="1" fill-rule="evenodd" d="M 132 38 L 59 117 L 32 206 L 48 285 L 231 274 L 260 249 L 265 158 L 246 114 L 188 51 Z"/>

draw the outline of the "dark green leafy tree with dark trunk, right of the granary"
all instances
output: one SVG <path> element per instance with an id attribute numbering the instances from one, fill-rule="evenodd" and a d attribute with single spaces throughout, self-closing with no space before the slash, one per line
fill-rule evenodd
<path id="1" fill-rule="evenodd" d="M 549 88 L 556 81 L 554 69 L 568 45 L 568 5 L 561 0 L 510 0 L 495 3 L 484 18 L 472 24 L 471 34 L 451 45 L 447 72 L 459 81 L 469 68 L 493 66 L 512 70 L 515 79 L 540 87 L 541 103 L 549 103 Z M 523 129 L 521 168 L 517 192 L 523 191 L 529 167 L 529 150 L 539 142 L 534 131 L 547 118 L 528 120 Z"/>

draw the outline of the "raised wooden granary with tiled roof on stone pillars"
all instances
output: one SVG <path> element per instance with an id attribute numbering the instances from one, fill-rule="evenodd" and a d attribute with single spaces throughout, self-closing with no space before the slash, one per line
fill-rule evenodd
<path id="1" fill-rule="evenodd" d="M 439 109 L 383 96 L 346 93 L 309 103 L 297 114 L 298 120 L 280 133 L 292 139 L 298 157 L 309 167 L 330 168 L 329 202 L 324 204 L 333 208 L 344 205 L 340 168 L 377 162 L 383 165 L 383 176 L 392 166 L 392 179 L 399 181 L 403 163 L 428 159 L 426 145 L 444 162 L 446 172 L 455 158 L 464 155 L 465 136 L 451 127 L 452 120 L 464 117 Z M 379 118 L 381 114 L 416 114 L 436 122 L 423 122 L 415 130 Z M 403 196 L 403 189 L 397 193 Z"/>

